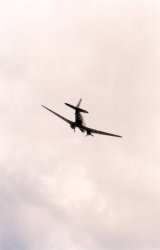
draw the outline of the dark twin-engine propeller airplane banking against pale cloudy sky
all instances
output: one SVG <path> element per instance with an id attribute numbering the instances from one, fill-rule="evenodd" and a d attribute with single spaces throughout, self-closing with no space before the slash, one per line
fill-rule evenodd
<path id="1" fill-rule="evenodd" d="M 95 133 L 95 134 L 100 134 L 100 135 L 122 137 L 120 135 L 115 135 L 115 134 L 111 134 L 111 133 L 107 133 L 107 132 L 103 132 L 103 131 L 100 131 L 100 130 L 96 130 L 96 129 L 92 129 L 92 128 L 86 127 L 85 124 L 84 124 L 84 120 L 83 120 L 83 117 L 82 117 L 81 113 L 88 113 L 88 111 L 80 108 L 81 102 L 82 102 L 82 99 L 79 100 L 77 106 L 73 106 L 73 105 L 71 105 L 69 103 L 65 103 L 65 105 L 67 105 L 68 107 L 70 107 L 70 108 L 72 108 L 72 109 L 75 110 L 75 122 L 68 120 L 67 118 L 59 115 L 58 113 L 54 112 L 53 110 L 47 108 L 44 105 L 41 105 L 41 106 L 43 108 L 47 109 L 48 111 L 50 111 L 51 113 L 53 113 L 54 115 L 56 115 L 59 118 L 61 118 L 63 121 L 69 123 L 70 127 L 72 129 L 74 129 L 74 132 L 75 132 L 76 128 L 79 128 L 79 130 L 81 132 L 83 132 L 83 133 L 86 132 L 86 136 L 88 136 L 88 135 L 93 136 L 93 133 Z"/>

